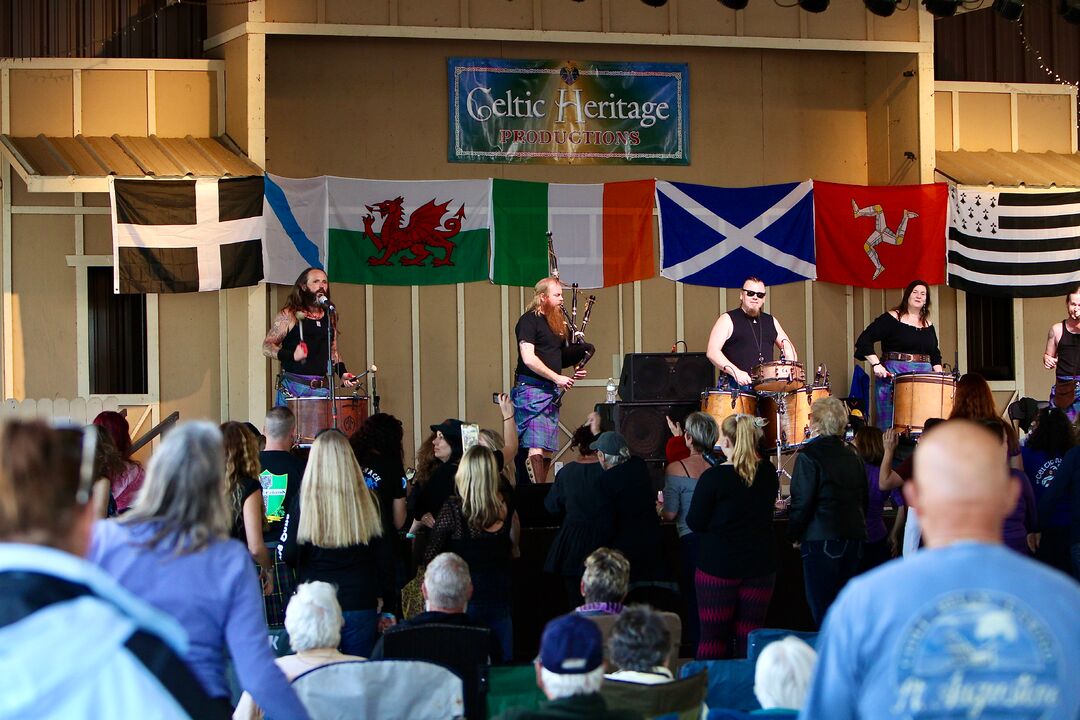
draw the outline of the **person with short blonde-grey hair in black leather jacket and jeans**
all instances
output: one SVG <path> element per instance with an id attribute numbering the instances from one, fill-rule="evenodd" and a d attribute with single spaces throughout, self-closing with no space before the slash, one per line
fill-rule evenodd
<path id="1" fill-rule="evenodd" d="M 869 502 L 866 468 L 843 441 L 848 411 L 835 397 L 810 410 L 810 440 L 795 461 L 787 534 L 802 555 L 807 602 L 821 627 L 825 612 L 859 572 Z"/>

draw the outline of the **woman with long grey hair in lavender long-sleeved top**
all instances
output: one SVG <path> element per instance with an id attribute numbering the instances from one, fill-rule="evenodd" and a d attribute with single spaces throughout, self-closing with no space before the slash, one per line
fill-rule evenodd
<path id="1" fill-rule="evenodd" d="M 87 559 L 184 626 L 185 661 L 222 709 L 232 709 L 231 656 L 240 685 L 275 718 L 307 718 L 270 653 L 251 554 L 229 539 L 226 488 L 221 432 L 205 421 L 177 425 L 150 459 L 133 510 L 94 526 Z"/>

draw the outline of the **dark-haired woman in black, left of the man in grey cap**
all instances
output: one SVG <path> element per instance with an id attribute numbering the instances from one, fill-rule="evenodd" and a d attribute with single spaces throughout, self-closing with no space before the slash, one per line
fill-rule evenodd
<path id="1" fill-rule="evenodd" d="M 552 515 L 565 513 L 543 569 L 563 579 L 571 610 L 581 604 L 585 558 L 611 541 L 611 500 L 599 481 L 604 468 L 596 450 L 589 447 L 595 440 L 589 424 L 575 431 L 570 448 L 578 451 L 578 459 L 563 465 L 543 501 Z"/>

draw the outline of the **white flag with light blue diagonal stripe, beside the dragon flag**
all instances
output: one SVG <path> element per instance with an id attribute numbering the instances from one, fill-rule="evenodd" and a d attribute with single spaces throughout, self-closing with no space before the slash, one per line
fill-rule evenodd
<path id="1" fill-rule="evenodd" d="M 292 285 L 308 268 L 326 267 L 326 177 L 264 176 L 262 268 L 268 283 Z"/>

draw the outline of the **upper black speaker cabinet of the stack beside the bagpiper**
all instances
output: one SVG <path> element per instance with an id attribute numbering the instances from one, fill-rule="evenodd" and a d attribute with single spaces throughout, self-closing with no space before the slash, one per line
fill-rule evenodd
<path id="1" fill-rule="evenodd" d="M 697 400 L 716 385 L 705 353 L 631 353 L 623 357 L 619 397 L 627 403 Z"/>

